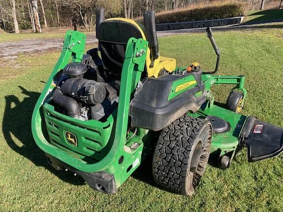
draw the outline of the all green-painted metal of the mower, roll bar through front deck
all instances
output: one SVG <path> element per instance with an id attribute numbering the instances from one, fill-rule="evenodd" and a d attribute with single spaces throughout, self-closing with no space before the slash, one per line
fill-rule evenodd
<path id="1" fill-rule="evenodd" d="M 128 131 L 129 104 L 141 79 L 141 73 L 144 71 L 148 42 L 143 39 L 129 39 L 122 69 L 118 109 L 105 122 L 99 122 L 73 119 L 55 111 L 54 106 L 49 104 L 52 91 L 56 87 L 54 81 L 56 74 L 70 60 L 81 61 L 85 40 L 84 33 L 78 31 L 66 33 L 62 54 L 35 105 L 31 121 L 32 134 L 36 144 L 45 153 L 83 172 L 112 173 L 119 187 L 145 158 L 149 149 L 147 148 L 149 147 L 148 142 L 151 140 L 151 133 L 148 133 L 148 130 L 137 129 L 134 136 L 131 136 L 132 132 Z M 240 126 L 243 126 L 246 116 L 214 106 L 211 86 L 213 84 L 235 84 L 233 90 L 238 89 L 243 92 L 245 100 L 247 91 L 244 88 L 244 79 L 243 76 L 203 75 L 207 102 L 204 108 L 196 113 L 188 113 L 190 116 L 203 118 L 209 114 L 217 115 L 227 120 L 235 129 L 233 132 L 213 136 L 212 152 L 220 151 L 219 155 L 235 152 L 239 144 Z M 177 81 L 174 84 L 175 87 L 172 88 L 174 92 L 168 99 L 171 100 L 195 86 L 194 83 L 175 93 L 178 85 L 193 80 L 193 77 L 188 77 L 188 79 Z M 199 92 L 195 94 L 196 97 L 201 95 L 203 94 Z M 48 135 L 43 133 L 44 129 L 47 129 Z M 77 147 L 69 145 L 66 142 L 65 131 L 74 132 L 81 143 Z M 133 144 L 137 147 L 131 148 Z"/>

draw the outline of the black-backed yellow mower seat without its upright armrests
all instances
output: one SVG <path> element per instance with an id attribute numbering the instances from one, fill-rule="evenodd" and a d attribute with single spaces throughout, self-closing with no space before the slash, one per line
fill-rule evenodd
<path id="1" fill-rule="evenodd" d="M 101 22 L 96 33 L 103 64 L 108 70 L 120 76 L 128 39 L 134 37 L 146 40 L 145 28 L 141 24 L 125 18 L 111 18 Z M 172 72 L 176 67 L 176 60 L 173 58 L 159 56 L 153 67 L 150 67 L 151 62 L 152 56 L 150 49 L 148 49 L 146 59 L 148 77 L 157 78 L 160 70 L 165 69 Z"/>

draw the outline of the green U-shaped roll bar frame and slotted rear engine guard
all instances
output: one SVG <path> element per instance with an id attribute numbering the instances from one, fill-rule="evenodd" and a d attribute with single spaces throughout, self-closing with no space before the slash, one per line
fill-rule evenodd
<path id="1" fill-rule="evenodd" d="M 68 31 L 65 36 L 62 54 L 47 81 L 32 115 L 32 134 L 36 144 L 46 153 L 84 172 L 105 171 L 113 173 L 119 187 L 139 166 L 144 158 L 144 136 L 148 131 L 138 129 L 131 139 L 126 139 L 130 96 L 140 80 L 145 66 L 148 42 L 143 39 L 129 39 L 126 47 L 125 60 L 121 77 L 120 99 L 118 109 L 111 114 L 107 121 L 80 121 L 58 113 L 48 104 L 49 95 L 54 87 L 53 78 L 69 62 L 80 61 L 84 52 L 85 42 L 78 42 L 85 34 Z M 73 45 L 74 44 L 74 45 Z M 142 52 L 137 56 L 137 52 Z M 43 117 L 44 116 L 44 117 Z M 45 120 L 50 141 L 42 133 L 42 122 Z M 55 127 L 56 126 L 56 127 Z M 64 132 L 69 131 L 78 138 L 78 145 L 67 143 Z M 131 150 L 128 143 L 139 143 L 139 147 Z M 121 164 L 118 159 L 124 156 Z M 130 171 L 126 169 L 135 161 Z"/>

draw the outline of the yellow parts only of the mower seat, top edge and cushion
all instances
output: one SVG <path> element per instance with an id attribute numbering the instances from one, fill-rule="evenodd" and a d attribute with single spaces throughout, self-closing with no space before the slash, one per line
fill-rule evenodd
<path id="1" fill-rule="evenodd" d="M 138 23 L 136 23 L 134 20 L 131 19 L 126 19 L 126 18 L 110 18 L 105 21 L 111 21 L 111 20 L 118 20 L 118 21 L 124 21 L 130 24 L 133 24 L 135 27 L 139 29 L 141 32 L 142 38 L 144 40 L 146 39 L 145 35 L 145 28 L 140 26 Z M 152 62 L 152 57 L 150 53 L 150 49 L 147 49 L 147 55 L 146 55 L 146 70 L 147 70 L 147 75 L 148 77 L 158 77 L 158 73 L 160 72 L 161 69 L 166 69 L 168 72 L 172 72 L 176 68 L 176 60 L 174 58 L 169 58 L 169 57 L 162 57 L 159 56 L 155 61 L 154 61 L 154 66 L 151 68 L 150 64 Z"/>

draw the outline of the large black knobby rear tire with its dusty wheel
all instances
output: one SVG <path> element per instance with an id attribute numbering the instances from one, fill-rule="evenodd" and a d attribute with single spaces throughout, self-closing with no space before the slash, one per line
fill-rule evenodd
<path id="1" fill-rule="evenodd" d="M 212 125 L 184 115 L 164 128 L 153 156 L 153 178 L 158 185 L 192 195 L 204 174 L 212 139 Z"/>

